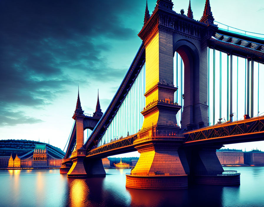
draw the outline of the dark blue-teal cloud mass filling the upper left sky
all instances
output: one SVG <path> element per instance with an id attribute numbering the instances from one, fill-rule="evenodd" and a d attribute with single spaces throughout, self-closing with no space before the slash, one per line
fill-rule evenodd
<path id="1" fill-rule="evenodd" d="M 0 116 L 3 125 L 37 123 L 23 106 L 43 108 L 77 83 L 123 79 L 102 51 L 136 37 L 140 1 L 0 1 Z M 144 4 L 144 3 L 143 3 Z M 141 15 L 142 16 L 142 15 Z M 5 111 L 12 106 L 12 116 Z M 16 112 L 19 111 L 19 112 Z M 13 118 L 11 118 L 13 117 Z"/>

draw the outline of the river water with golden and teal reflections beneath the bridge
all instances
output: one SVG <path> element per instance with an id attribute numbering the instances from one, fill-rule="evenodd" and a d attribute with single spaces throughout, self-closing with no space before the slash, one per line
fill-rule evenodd
<path id="1" fill-rule="evenodd" d="M 130 169 L 105 178 L 72 179 L 58 169 L 1 170 L 0 206 L 264 206 L 264 167 L 224 167 L 241 173 L 240 186 L 193 185 L 187 190 L 126 188 Z"/>

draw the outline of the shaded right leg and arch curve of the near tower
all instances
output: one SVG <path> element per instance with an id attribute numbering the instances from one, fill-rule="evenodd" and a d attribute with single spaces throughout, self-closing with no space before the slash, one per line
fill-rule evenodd
<path id="1" fill-rule="evenodd" d="M 199 41 L 173 34 L 173 51 L 184 63 L 184 106 L 182 129 L 192 130 L 207 126 L 207 47 L 202 48 Z"/>

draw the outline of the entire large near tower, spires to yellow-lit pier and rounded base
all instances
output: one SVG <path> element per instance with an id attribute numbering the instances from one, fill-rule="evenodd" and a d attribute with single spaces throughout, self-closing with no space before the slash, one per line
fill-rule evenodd
<path id="1" fill-rule="evenodd" d="M 144 25 L 138 34 L 146 48 L 146 107 L 141 112 L 143 126 L 134 141 L 140 157 L 126 177 L 127 187 L 188 186 L 190 169 L 186 154 L 179 148 L 184 137 L 178 135 L 176 120 L 182 106 L 172 101 L 177 90 L 173 58 L 176 51 L 184 62 L 182 127 L 191 130 L 207 126 L 207 41 L 217 29 L 208 5 L 209 0 L 202 22 L 193 20 L 190 5 L 188 16 L 173 11 L 171 0 L 158 0 L 151 16 L 146 6 Z"/>

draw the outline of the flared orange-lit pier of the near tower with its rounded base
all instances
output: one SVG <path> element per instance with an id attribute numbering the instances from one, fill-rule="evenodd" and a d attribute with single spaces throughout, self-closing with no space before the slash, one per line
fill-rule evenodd
<path id="1" fill-rule="evenodd" d="M 144 132 L 143 132 L 144 133 Z M 126 175 L 126 187 L 138 189 L 186 189 L 189 167 L 178 148 L 182 137 L 151 136 L 134 141 L 140 157 L 131 173 Z"/>

